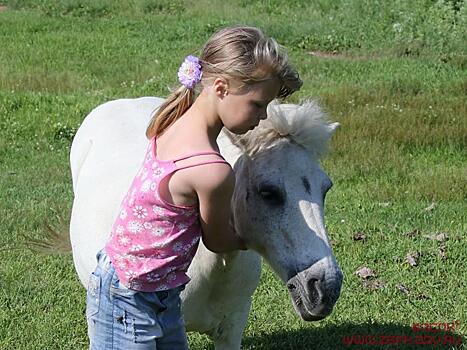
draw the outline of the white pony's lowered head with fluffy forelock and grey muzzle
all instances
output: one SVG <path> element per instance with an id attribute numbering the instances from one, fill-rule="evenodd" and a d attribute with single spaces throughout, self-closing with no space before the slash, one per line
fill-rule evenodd
<path id="1" fill-rule="evenodd" d="M 327 316 L 342 284 L 324 225 L 332 182 L 319 165 L 338 125 L 312 101 L 273 104 L 256 129 L 228 135 L 242 151 L 235 164 L 237 230 L 286 283 L 304 320 Z"/>

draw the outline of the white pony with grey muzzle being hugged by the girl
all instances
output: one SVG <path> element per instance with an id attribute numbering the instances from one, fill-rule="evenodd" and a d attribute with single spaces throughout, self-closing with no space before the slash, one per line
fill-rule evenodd
<path id="1" fill-rule="evenodd" d="M 73 259 L 82 284 L 96 265 L 122 198 L 143 161 L 145 129 L 163 100 L 122 99 L 94 109 L 71 148 Z M 221 153 L 237 177 L 235 225 L 248 251 L 215 254 L 201 243 L 182 294 L 188 331 L 208 334 L 217 350 L 238 350 L 261 273 L 261 256 L 286 284 L 306 321 L 329 315 L 342 272 L 324 226 L 331 181 L 318 159 L 338 126 L 313 102 L 271 105 L 268 118 L 239 137 L 223 131 Z"/>

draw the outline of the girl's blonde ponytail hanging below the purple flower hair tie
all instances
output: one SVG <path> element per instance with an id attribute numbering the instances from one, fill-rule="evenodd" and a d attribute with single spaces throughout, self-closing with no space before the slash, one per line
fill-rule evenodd
<path id="1" fill-rule="evenodd" d="M 162 135 L 190 108 L 194 100 L 193 89 L 188 89 L 183 85 L 172 92 L 152 116 L 146 129 L 146 137 L 151 139 L 154 136 Z"/>

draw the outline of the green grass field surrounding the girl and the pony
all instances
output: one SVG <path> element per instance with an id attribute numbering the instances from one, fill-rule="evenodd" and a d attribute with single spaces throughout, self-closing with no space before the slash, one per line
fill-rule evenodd
<path id="1" fill-rule="evenodd" d="M 304 323 L 264 266 L 243 348 L 356 349 L 343 338 L 453 321 L 467 348 L 467 1 L 0 4 L 0 349 L 86 348 L 71 256 L 24 242 L 43 238 L 46 220 L 66 225 L 68 152 L 85 115 L 110 99 L 166 96 L 183 57 L 230 24 L 284 44 L 304 80 L 289 101 L 316 97 L 342 124 L 323 162 L 341 298 L 330 317 Z M 361 266 L 377 275 L 367 285 Z M 213 348 L 195 334 L 190 343 Z"/>

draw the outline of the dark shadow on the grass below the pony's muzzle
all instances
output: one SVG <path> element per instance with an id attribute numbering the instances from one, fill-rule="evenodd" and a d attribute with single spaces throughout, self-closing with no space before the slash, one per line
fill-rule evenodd
<path id="1" fill-rule="evenodd" d="M 455 332 L 441 330 L 413 331 L 397 324 L 343 324 L 247 336 L 242 349 L 467 349 L 467 341 Z"/>

